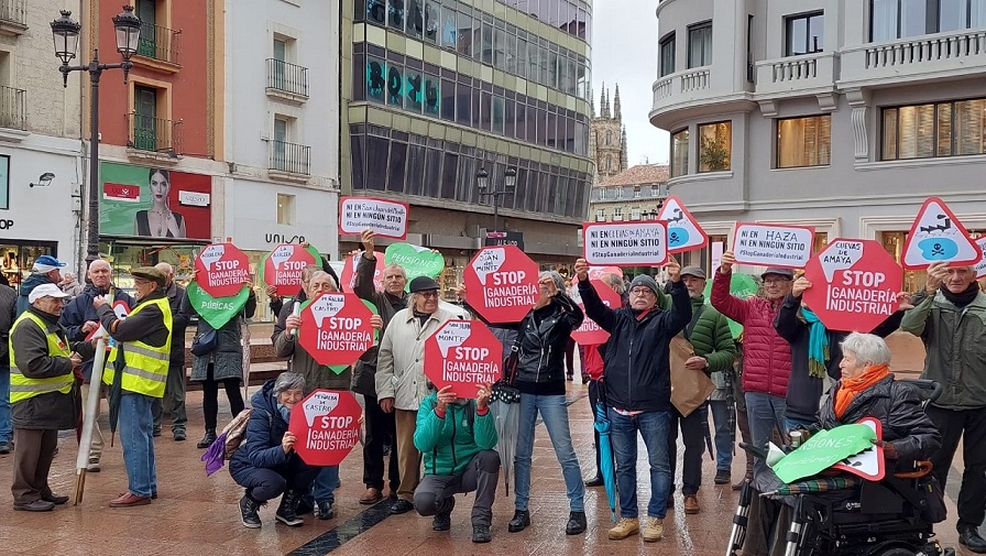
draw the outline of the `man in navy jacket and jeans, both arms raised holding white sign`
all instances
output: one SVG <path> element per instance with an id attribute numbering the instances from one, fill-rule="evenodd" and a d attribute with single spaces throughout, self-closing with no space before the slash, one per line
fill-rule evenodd
<path id="1" fill-rule="evenodd" d="M 670 344 L 691 320 L 691 302 L 681 281 L 681 266 L 671 259 L 665 265 L 671 282 L 671 310 L 657 306 L 660 295 L 653 277 L 640 274 L 629 286 L 629 305 L 607 307 L 589 282 L 589 263 L 576 261 L 579 294 L 589 318 L 610 332 L 603 378 L 610 436 L 616 456 L 620 521 L 607 537 L 620 541 L 638 532 L 645 542 L 664 536 L 671 467 L 668 429 L 671 411 Z M 647 446 L 650 500 L 647 517 L 637 519 L 637 434 Z"/>

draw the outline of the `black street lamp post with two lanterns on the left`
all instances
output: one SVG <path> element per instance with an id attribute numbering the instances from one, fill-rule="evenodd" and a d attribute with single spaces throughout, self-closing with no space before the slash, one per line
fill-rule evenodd
<path id="1" fill-rule="evenodd" d="M 123 12 L 113 17 L 113 28 L 117 36 L 117 52 L 123 57 L 119 64 L 100 64 L 99 48 L 92 52 L 92 59 L 88 64 L 69 66 L 79 46 L 79 22 L 72 19 L 72 12 L 62 10 L 62 17 L 52 22 L 52 35 L 55 40 L 55 56 L 62 61 L 58 70 L 62 72 L 62 83 L 68 87 L 68 74 L 72 72 L 88 72 L 90 85 L 89 110 L 89 222 L 86 240 L 86 265 L 99 259 L 99 195 L 97 183 L 99 182 L 99 78 L 105 69 L 122 69 L 123 83 L 130 75 L 133 64 L 130 57 L 136 52 L 141 37 L 141 20 L 133 14 L 132 6 L 124 6 Z"/>

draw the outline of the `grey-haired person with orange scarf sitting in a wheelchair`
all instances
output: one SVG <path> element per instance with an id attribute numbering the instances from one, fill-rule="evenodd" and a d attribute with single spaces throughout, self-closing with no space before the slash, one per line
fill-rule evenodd
<path id="1" fill-rule="evenodd" d="M 923 462 L 935 450 L 941 448 L 941 435 L 928 415 L 924 414 L 924 395 L 917 386 L 894 379 L 894 374 L 889 371 L 890 349 L 879 336 L 853 332 L 845 338 L 841 346 L 843 350 L 843 359 L 840 363 L 842 379 L 832 386 L 831 395 L 819 411 L 818 423 L 809 426 L 807 429 L 798 430 L 801 434 L 802 441 L 807 440 L 810 434 L 818 430 L 856 423 L 863 417 L 874 417 L 880 422 L 883 429 L 883 439 L 874 440 L 874 444 L 878 444 L 884 449 L 886 477 L 888 478 L 885 482 L 891 483 L 890 488 L 880 489 L 878 495 L 891 497 L 890 503 L 887 504 L 888 506 L 901 505 L 899 503 L 900 498 L 906 499 L 905 501 L 919 502 L 922 495 L 934 497 L 938 500 L 928 500 L 927 504 L 943 508 L 942 491 L 940 488 L 932 488 L 930 476 L 922 483 L 921 492 L 914 492 L 910 487 L 903 487 L 903 481 L 892 479 L 897 472 L 913 471 L 916 462 Z M 925 466 L 924 472 L 927 473 L 927 471 L 928 467 Z M 773 472 L 769 472 L 769 475 L 773 477 Z M 758 477 L 756 482 L 760 486 L 769 482 L 764 479 Z M 776 477 L 773 477 L 773 479 L 779 482 Z M 879 484 L 879 487 L 870 487 L 869 484 Z M 855 489 L 840 494 L 833 493 L 831 498 L 851 499 L 852 503 L 843 503 L 841 508 L 858 510 L 865 503 L 867 497 L 869 497 L 868 492 L 877 491 L 878 488 L 883 487 L 883 483 L 869 484 L 865 489 Z M 910 491 L 908 491 L 909 489 Z M 861 493 L 861 490 L 867 490 L 868 492 Z M 748 494 L 744 498 L 751 500 Z M 785 545 L 788 544 L 787 537 L 790 536 L 788 533 L 790 523 L 795 514 L 798 513 L 797 508 L 800 508 L 800 503 L 795 503 L 796 508 L 792 509 L 789 503 L 780 504 L 771 501 L 760 501 L 759 498 L 753 495 L 753 499 L 759 503 L 754 504 L 757 508 L 749 509 L 749 525 L 744 534 L 740 535 L 745 536 L 745 543 L 738 543 L 743 545 L 743 549 L 735 550 L 737 556 L 833 554 L 828 552 L 832 549 L 831 547 L 824 549 L 825 552 L 809 549 L 786 553 Z M 743 504 L 742 501 L 741 504 Z M 916 525 L 917 530 L 927 527 L 930 533 L 931 523 L 922 521 L 920 517 L 916 517 L 916 520 L 909 523 L 908 527 L 911 530 L 916 530 Z M 803 530 L 801 532 L 804 533 Z M 927 542 L 929 535 L 921 536 L 921 531 L 916 531 L 916 534 L 917 544 Z M 735 546 L 737 544 L 735 537 L 736 535 L 734 534 L 734 538 L 730 541 L 731 545 Z M 774 542 L 771 543 L 770 539 Z M 801 544 L 812 545 L 811 542 L 802 542 Z M 858 552 L 846 554 L 880 553 L 865 552 L 861 547 Z M 913 555 L 916 552 L 898 554 Z"/>

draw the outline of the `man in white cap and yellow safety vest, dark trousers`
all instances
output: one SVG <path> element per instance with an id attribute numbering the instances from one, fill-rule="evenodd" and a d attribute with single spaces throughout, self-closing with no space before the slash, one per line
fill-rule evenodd
<path id="1" fill-rule="evenodd" d="M 55 284 L 42 284 L 28 296 L 28 309 L 10 331 L 10 403 L 13 410 L 13 509 L 47 512 L 68 497 L 48 487 L 48 471 L 58 447 L 58 430 L 76 427 L 79 393 L 75 375 L 92 357 L 90 342 L 69 345 L 58 316 L 65 297 Z"/>

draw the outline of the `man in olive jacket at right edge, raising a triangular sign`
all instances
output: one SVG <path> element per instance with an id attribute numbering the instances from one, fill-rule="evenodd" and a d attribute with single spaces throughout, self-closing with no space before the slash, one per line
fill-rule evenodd
<path id="1" fill-rule="evenodd" d="M 927 408 L 941 430 L 942 449 L 931 456 L 942 489 L 962 439 L 962 489 L 958 491 L 958 542 L 986 553 L 978 526 L 986 516 L 986 294 L 969 266 L 935 262 L 928 282 L 911 301 L 900 327 L 924 341 L 922 379 L 938 381 L 942 395 Z"/>

